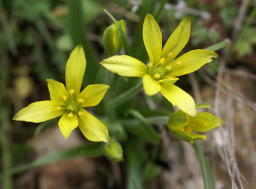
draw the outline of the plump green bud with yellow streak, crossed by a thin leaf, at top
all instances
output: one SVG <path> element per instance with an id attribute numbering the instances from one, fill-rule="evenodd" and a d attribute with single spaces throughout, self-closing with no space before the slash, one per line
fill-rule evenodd
<path id="1" fill-rule="evenodd" d="M 120 20 L 118 23 L 126 35 L 125 21 Z M 119 29 L 115 23 L 112 23 L 112 25 L 108 26 L 104 31 L 102 43 L 105 52 L 110 56 L 118 54 L 123 48 L 122 38 L 120 37 Z"/>

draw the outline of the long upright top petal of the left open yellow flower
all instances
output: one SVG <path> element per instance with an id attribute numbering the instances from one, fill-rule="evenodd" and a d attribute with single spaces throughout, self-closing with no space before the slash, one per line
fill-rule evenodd
<path id="1" fill-rule="evenodd" d="M 74 89 L 74 99 L 79 95 L 83 82 L 86 59 L 82 45 L 76 46 L 71 53 L 66 65 L 66 87 L 67 91 Z"/>

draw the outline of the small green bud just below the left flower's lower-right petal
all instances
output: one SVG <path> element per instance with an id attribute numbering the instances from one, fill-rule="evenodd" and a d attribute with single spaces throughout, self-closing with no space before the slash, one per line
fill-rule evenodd
<path id="1" fill-rule="evenodd" d="M 104 147 L 104 154 L 105 154 L 105 157 L 107 157 L 107 159 L 109 161 L 122 161 L 122 159 L 123 159 L 122 146 L 120 145 L 119 142 L 114 140 L 114 141 L 108 143 Z"/>

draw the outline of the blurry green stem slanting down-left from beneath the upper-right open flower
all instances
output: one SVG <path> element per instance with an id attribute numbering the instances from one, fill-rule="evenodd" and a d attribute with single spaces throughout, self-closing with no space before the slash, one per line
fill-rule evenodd
<path id="1" fill-rule="evenodd" d="M 111 107 L 111 108 L 115 108 L 118 105 L 120 105 L 121 103 L 124 103 L 124 101 L 129 100 L 130 98 L 132 98 L 132 96 L 136 95 L 137 93 L 139 93 L 139 91 L 141 90 L 141 88 L 143 88 L 143 83 L 140 82 L 138 83 L 136 86 L 134 86 L 133 88 L 129 89 L 128 91 L 125 91 L 124 93 L 122 93 L 121 95 L 117 96 L 117 98 L 113 99 L 112 101 L 110 101 L 107 104 L 107 107 Z"/>

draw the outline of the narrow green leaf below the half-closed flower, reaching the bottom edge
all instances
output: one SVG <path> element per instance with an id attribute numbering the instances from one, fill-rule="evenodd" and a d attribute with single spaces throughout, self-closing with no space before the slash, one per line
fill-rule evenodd
<path id="1" fill-rule="evenodd" d="M 199 161 L 201 164 L 202 177 L 204 179 L 204 189 L 215 189 L 215 182 L 212 175 L 211 167 L 207 162 L 206 157 L 204 157 L 204 154 L 202 153 L 199 142 L 197 142 L 197 140 L 194 140 L 194 143 L 192 145 L 197 152 L 197 156 L 199 157 Z"/>

